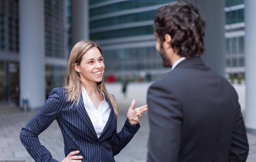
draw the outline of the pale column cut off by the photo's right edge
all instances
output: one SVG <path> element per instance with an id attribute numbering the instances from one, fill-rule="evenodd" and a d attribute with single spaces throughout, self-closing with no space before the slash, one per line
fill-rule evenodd
<path id="1" fill-rule="evenodd" d="M 248 132 L 256 133 L 256 0 L 245 0 L 245 124 Z"/>

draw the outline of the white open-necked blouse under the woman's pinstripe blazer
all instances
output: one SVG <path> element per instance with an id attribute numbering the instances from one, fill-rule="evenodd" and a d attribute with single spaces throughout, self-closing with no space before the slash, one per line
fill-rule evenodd
<path id="1" fill-rule="evenodd" d="M 86 90 L 82 87 L 84 107 L 90 117 L 90 120 L 92 121 L 92 125 L 95 129 L 98 138 L 100 137 L 100 134 L 102 133 L 110 114 L 110 107 L 108 105 L 108 102 L 105 100 L 104 93 L 103 96 L 104 100 L 100 102 L 100 105 L 97 110 L 94 104 L 92 103 L 90 97 L 88 96 Z"/>

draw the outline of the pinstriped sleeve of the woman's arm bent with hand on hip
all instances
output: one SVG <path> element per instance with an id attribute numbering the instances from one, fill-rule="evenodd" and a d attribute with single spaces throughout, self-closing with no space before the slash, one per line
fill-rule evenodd
<path id="1" fill-rule="evenodd" d="M 58 162 L 39 142 L 38 135 L 58 118 L 64 104 L 64 92 L 54 88 L 44 106 L 34 115 L 20 132 L 20 140 L 30 156 L 36 162 Z"/>

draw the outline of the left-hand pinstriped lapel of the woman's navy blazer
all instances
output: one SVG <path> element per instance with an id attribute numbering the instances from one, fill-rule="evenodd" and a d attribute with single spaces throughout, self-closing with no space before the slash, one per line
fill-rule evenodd
<path id="1" fill-rule="evenodd" d="M 76 104 L 74 104 L 74 105 L 76 105 Z M 76 105 L 75 107 L 76 107 L 76 111 L 78 112 L 78 115 L 80 116 L 80 118 L 82 119 L 84 124 L 86 124 L 86 126 L 89 127 L 89 129 L 92 132 L 92 134 L 94 134 L 94 136 L 96 138 L 98 138 L 98 136 L 97 136 L 97 134 L 95 132 L 95 129 L 94 129 L 93 125 L 92 125 L 92 121 L 90 119 L 90 116 L 88 115 L 88 113 L 86 112 L 86 109 L 84 107 L 82 93 L 81 93 L 78 105 Z"/>

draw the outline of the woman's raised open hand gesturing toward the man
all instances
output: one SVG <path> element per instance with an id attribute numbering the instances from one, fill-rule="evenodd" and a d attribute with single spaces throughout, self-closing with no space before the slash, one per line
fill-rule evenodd
<path id="1" fill-rule="evenodd" d="M 127 112 L 127 118 L 129 120 L 130 124 L 133 126 L 138 124 L 138 122 L 140 122 L 142 114 L 144 114 L 144 112 L 148 111 L 148 105 L 144 105 L 144 106 L 133 109 L 135 103 L 136 103 L 136 100 L 132 100 L 132 104 Z"/>

